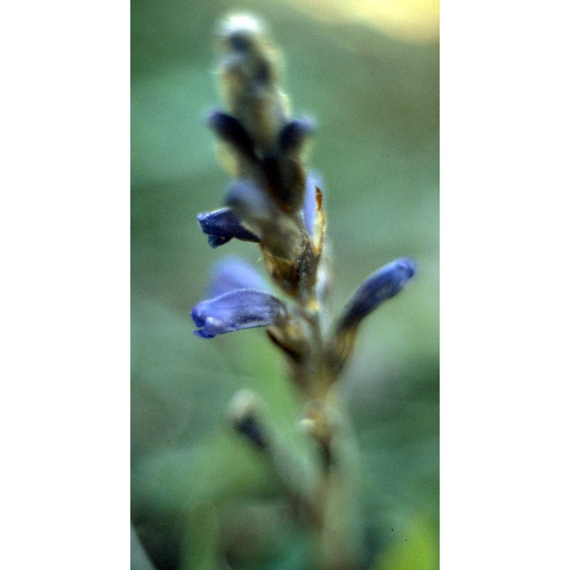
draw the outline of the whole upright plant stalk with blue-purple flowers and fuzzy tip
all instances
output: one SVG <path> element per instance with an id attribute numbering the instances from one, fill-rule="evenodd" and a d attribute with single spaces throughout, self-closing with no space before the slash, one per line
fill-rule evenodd
<path id="1" fill-rule="evenodd" d="M 195 333 L 213 338 L 265 327 L 284 353 L 304 399 L 299 429 L 316 442 L 314 465 L 294 465 L 258 395 L 242 391 L 234 397 L 232 425 L 266 455 L 299 521 L 316 537 L 315 566 L 363 569 L 370 556 L 358 509 L 356 443 L 335 387 L 363 318 L 403 289 L 414 264 L 397 259 L 375 271 L 326 326 L 326 214 L 322 190 L 305 166 L 314 124 L 291 115 L 276 50 L 259 21 L 231 16 L 218 39 L 227 110 L 211 113 L 208 123 L 234 182 L 225 207 L 197 219 L 214 248 L 231 239 L 257 243 L 279 296 L 246 262 L 223 261 L 207 299 L 192 309 Z"/>

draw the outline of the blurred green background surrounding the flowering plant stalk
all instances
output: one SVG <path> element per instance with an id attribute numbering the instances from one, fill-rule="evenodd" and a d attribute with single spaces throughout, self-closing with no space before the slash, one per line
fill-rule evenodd
<path id="1" fill-rule="evenodd" d="M 264 19 L 294 114 L 318 124 L 309 165 L 323 180 L 331 310 L 379 266 L 418 261 L 361 327 L 342 392 L 373 568 L 438 566 L 438 6 L 386 3 L 394 16 L 380 4 L 131 3 L 132 568 L 227 567 L 219 551 L 234 569 L 310 568 L 309 539 L 284 517 L 269 470 L 227 427 L 232 395 L 252 388 L 304 452 L 284 362 L 262 331 L 204 341 L 189 316 L 216 259 L 258 257 L 253 244 L 210 249 L 195 221 L 229 183 L 204 116 L 221 106 L 212 32 L 234 9 Z"/>

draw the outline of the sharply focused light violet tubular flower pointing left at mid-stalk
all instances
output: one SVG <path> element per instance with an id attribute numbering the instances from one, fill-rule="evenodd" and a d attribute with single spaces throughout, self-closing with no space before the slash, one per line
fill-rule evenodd
<path id="1" fill-rule="evenodd" d="M 192 309 L 192 318 L 202 338 L 217 334 L 242 331 L 245 328 L 284 323 L 286 306 L 269 295 L 255 289 L 237 289 L 214 299 L 202 301 Z"/>

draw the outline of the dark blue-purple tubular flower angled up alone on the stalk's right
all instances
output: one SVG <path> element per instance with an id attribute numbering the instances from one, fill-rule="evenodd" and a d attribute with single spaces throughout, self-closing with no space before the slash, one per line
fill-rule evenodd
<path id="1" fill-rule="evenodd" d="M 400 258 L 368 276 L 346 304 L 338 321 L 338 330 L 358 326 L 376 307 L 398 294 L 411 279 L 414 271 L 415 267 L 410 259 Z"/>

